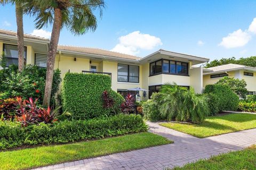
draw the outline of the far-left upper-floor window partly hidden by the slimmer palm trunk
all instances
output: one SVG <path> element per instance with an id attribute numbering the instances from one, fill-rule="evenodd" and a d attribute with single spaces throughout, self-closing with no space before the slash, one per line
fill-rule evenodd
<path id="1" fill-rule="evenodd" d="M 6 66 L 9 67 L 9 65 L 15 64 L 18 65 L 18 46 L 16 45 L 10 45 L 10 44 L 4 44 L 3 51 L 6 56 Z M 24 47 L 24 58 L 26 62 L 26 56 L 27 56 L 27 47 Z"/>

